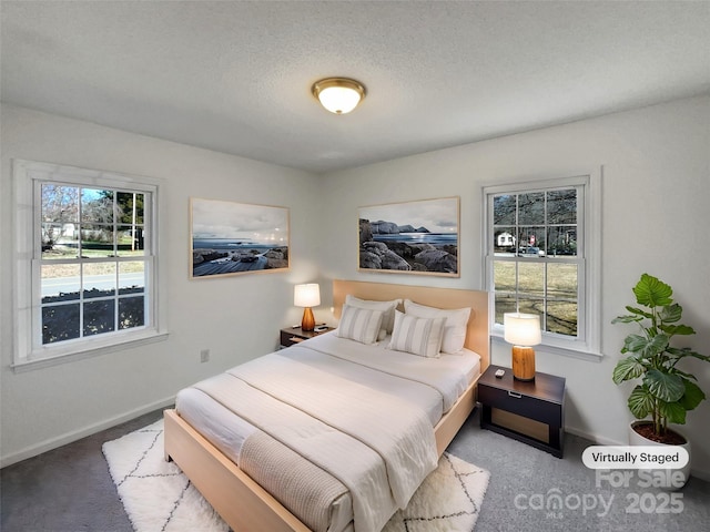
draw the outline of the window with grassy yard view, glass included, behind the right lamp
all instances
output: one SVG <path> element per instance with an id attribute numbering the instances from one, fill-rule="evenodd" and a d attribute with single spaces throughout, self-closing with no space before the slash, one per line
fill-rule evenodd
<path id="1" fill-rule="evenodd" d="M 591 176 L 484 188 L 491 334 L 505 313 L 540 316 L 542 344 L 599 349 L 599 201 Z"/>

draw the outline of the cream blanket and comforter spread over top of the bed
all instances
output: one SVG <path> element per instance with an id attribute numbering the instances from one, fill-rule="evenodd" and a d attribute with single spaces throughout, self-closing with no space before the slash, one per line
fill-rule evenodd
<path id="1" fill-rule="evenodd" d="M 328 471 L 355 531 L 379 531 L 436 468 L 433 426 L 470 380 L 460 359 L 382 355 L 323 335 L 193 388 Z"/>

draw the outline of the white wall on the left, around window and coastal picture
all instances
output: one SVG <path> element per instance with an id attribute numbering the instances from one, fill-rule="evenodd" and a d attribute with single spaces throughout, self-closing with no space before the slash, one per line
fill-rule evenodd
<path id="1" fill-rule="evenodd" d="M 317 280 L 308 173 L 200 150 L 87 122 L 2 105 L 0 378 L 2 463 L 11 463 L 172 401 L 203 377 L 272 351 L 278 329 L 300 321 L 293 285 Z M 11 160 L 26 158 L 166 182 L 163 242 L 169 260 L 166 341 L 81 361 L 14 372 L 12 362 Z M 291 209 L 288 273 L 189 280 L 189 198 L 281 205 Z M 200 349 L 211 361 L 200 364 Z"/>

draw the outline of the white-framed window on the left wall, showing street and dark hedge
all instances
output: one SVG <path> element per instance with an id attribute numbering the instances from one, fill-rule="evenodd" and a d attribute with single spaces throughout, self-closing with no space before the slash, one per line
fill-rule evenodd
<path id="1" fill-rule="evenodd" d="M 16 366 L 155 337 L 158 184 L 14 161 Z"/>

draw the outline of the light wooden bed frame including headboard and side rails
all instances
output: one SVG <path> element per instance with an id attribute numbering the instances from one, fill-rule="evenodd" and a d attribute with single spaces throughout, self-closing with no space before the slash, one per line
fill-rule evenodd
<path id="1" fill-rule="evenodd" d="M 412 299 L 437 308 L 471 307 L 465 346 L 480 357 L 480 371 L 490 364 L 489 294 L 478 290 L 430 288 L 353 280 L 333 282 L 336 317 L 351 294 L 361 299 Z M 454 439 L 476 405 L 476 381 L 462 395 L 435 428 L 439 456 Z M 311 532 L 266 490 L 254 482 L 175 410 L 165 410 L 165 459 L 174 460 L 234 532 Z"/>

